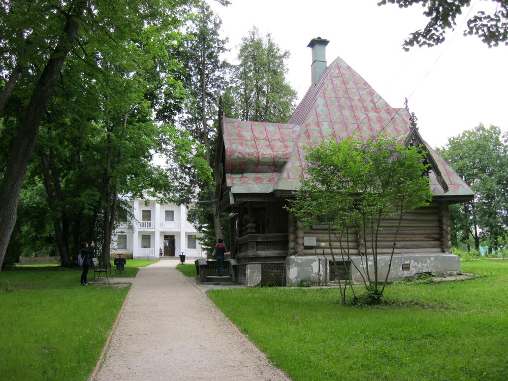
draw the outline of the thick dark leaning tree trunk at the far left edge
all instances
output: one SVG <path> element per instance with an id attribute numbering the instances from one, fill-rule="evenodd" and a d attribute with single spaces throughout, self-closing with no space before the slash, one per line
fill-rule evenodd
<path id="1" fill-rule="evenodd" d="M 58 73 L 62 69 L 63 61 L 69 53 L 69 46 L 78 30 L 79 16 L 83 13 L 85 5 L 86 2 L 80 1 L 76 16 L 74 14 L 67 16 L 66 26 L 63 30 L 65 37 L 58 41 L 51 58 L 44 67 L 26 107 L 18 136 L 9 155 L 7 169 L 2 185 L 0 185 L 0 200 L 2 200 L 0 203 L 0 268 L 4 263 L 7 245 L 16 224 L 19 193 L 30 161 L 30 155 L 34 150 L 39 134 L 39 123 L 46 110 L 48 99 L 53 92 Z"/>

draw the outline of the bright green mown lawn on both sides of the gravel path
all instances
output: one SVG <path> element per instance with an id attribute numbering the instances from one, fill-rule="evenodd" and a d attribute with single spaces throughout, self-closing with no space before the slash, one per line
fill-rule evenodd
<path id="1" fill-rule="evenodd" d="M 136 265 L 131 261 L 127 269 Z M 194 266 L 178 266 L 194 276 Z M 462 267 L 487 276 L 396 283 L 387 289 L 396 303 L 382 307 L 342 306 L 336 289 L 230 289 L 208 295 L 294 381 L 504 381 L 508 261 Z M 79 269 L 58 267 L 0 273 L 2 379 L 89 377 L 128 288 L 83 287 L 79 275 Z"/>

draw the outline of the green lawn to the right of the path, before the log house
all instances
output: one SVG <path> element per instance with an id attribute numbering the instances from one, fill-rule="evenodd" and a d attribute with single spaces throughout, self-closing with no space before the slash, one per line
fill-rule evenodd
<path id="1" fill-rule="evenodd" d="M 336 289 L 210 290 L 209 297 L 294 381 L 508 379 L 508 261 L 488 275 L 391 285 L 394 303 L 342 306 Z"/>

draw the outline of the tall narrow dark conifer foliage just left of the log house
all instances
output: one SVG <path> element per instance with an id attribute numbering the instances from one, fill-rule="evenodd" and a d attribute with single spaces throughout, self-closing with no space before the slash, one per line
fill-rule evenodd
<path id="1" fill-rule="evenodd" d="M 188 38 L 184 42 L 187 62 L 185 83 L 192 97 L 179 118 L 179 126 L 190 131 L 203 145 L 207 165 L 212 168 L 215 162 L 219 94 L 226 87 L 225 75 L 229 68 L 228 63 L 220 59 L 220 54 L 226 51 L 227 39 L 220 39 L 222 22 L 204 1 L 197 4 L 195 11 L 196 17 L 187 25 Z M 210 178 L 200 181 L 194 177 L 192 182 L 199 200 L 214 199 L 214 181 Z M 189 208 L 187 219 L 201 233 L 202 247 L 211 252 L 216 238 L 222 237 L 218 216 L 209 205 L 198 203 Z"/>

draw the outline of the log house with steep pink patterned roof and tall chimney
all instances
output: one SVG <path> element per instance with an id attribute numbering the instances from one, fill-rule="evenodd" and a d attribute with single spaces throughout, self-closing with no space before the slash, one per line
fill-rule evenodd
<path id="1" fill-rule="evenodd" d="M 404 215 L 389 279 L 460 271 L 459 258 L 451 253 L 449 205 L 471 200 L 471 189 L 422 139 L 406 108 L 390 107 L 341 58 L 327 66 L 327 44 L 317 38 L 308 45 L 312 83 L 288 123 L 219 116 L 216 212 L 232 216 L 228 244 L 238 280 L 250 285 L 291 285 L 301 280 L 330 284 L 337 279 L 327 231 L 320 226 L 302 229 L 283 206 L 300 185 L 304 146 L 325 137 L 371 137 L 380 131 L 406 144 L 425 146 L 434 194 L 430 206 Z M 393 221 L 383 221 L 378 247 L 379 253 L 386 254 L 379 259 L 382 272 L 388 265 L 388 240 L 394 229 Z M 353 262 L 360 260 L 360 250 L 365 248 L 353 245 Z M 353 266 L 350 270 L 352 280 L 360 281 L 358 271 Z"/>

